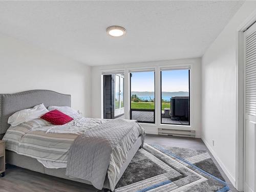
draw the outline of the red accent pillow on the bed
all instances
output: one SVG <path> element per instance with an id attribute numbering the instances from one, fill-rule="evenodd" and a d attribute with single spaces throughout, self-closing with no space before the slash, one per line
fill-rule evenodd
<path id="1" fill-rule="evenodd" d="M 46 121 L 48 121 L 52 124 L 55 124 L 55 125 L 66 124 L 73 120 L 72 117 L 70 117 L 58 110 L 50 111 L 50 112 L 46 113 L 45 115 L 41 116 L 41 118 L 45 119 Z"/>

